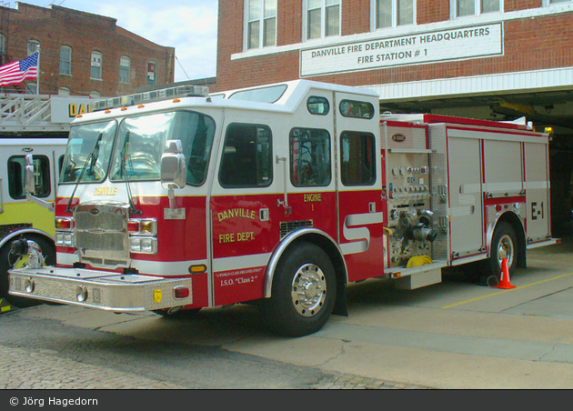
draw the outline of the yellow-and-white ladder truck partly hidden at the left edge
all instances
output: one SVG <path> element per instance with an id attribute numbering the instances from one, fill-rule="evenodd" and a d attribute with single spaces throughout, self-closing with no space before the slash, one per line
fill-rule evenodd
<path id="1" fill-rule="evenodd" d="M 26 266 L 27 255 L 12 253 L 17 240 L 34 241 L 45 264 L 55 264 L 54 203 L 59 165 L 70 122 L 89 110 L 87 97 L 0 95 L 0 309 L 38 301 L 8 294 L 8 269 Z M 32 193 L 25 192 L 25 156 L 34 165 Z"/>

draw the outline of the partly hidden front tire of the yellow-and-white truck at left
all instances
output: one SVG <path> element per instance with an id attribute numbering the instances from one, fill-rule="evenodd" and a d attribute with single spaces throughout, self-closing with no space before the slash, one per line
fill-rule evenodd
<path id="1" fill-rule="evenodd" d="M 45 266 L 55 266 L 55 246 L 50 241 L 39 236 L 24 236 L 26 240 L 35 241 L 35 243 L 42 249 L 42 254 L 45 258 Z M 16 236 L 14 240 L 21 239 L 21 236 Z M 13 241 L 14 241 L 13 240 Z M 12 267 L 22 267 L 27 263 L 27 256 L 18 257 L 11 253 L 12 241 L 8 241 L 5 246 L 0 250 L 0 298 L 5 300 L 12 306 L 18 308 L 25 308 L 28 306 L 38 306 L 42 304 L 41 301 L 33 298 L 25 298 L 20 296 L 10 296 L 8 269 Z"/>

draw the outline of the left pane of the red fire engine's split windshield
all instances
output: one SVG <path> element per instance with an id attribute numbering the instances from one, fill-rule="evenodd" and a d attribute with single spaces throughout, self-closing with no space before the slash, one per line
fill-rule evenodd
<path id="1" fill-rule="evenodd" d="M 83 183 L 103 181 L 115 137 L 115 121 L 73 126 L 65 150 L 60 183 L 76 183 L 80 176 Z"/>

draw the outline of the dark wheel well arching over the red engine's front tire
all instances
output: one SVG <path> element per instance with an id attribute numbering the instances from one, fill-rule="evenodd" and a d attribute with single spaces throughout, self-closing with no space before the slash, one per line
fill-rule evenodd
<path id="1" fill-rule="evenodd" d="M 282 251 L 277 266 L 281 264 L 281 260 L 288 250 L 299 246 L 302 243 L 312 243 L 319 246 L 325 251 L 325 253 L 327 253 L 330 261 L 332 261 L 332 265 L 335 269 L 335 276 L 337 278 L 337 298 L 332 313 L 337 316 L 347 316 L 347 266 L 341 251 L 329 237 L 321 235 L 319 232 L 311 232 L 302 236 L 297 236 L 297 238 L 290 242 L 290 244 Z M 271 274 L 274 275 L 274 273 Z"/>

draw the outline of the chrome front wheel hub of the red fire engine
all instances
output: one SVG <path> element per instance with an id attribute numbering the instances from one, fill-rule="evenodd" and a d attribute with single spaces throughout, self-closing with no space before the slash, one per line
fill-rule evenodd
<path id="1" fill-rule="evenodd" d="M 314 264 L 297 270 L 293 279 L 291 297 L 293 306 L 301 316 L 315 316 L 327 299 L 327 279 Z"/>

